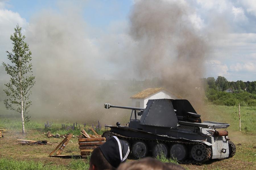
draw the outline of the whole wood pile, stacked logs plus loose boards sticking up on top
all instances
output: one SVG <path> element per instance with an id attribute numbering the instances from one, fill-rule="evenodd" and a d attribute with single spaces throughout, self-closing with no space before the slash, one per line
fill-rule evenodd
<path id="1" fill-rule="evenodd" d="M 90 128 L 91 131 L 95 135 L 88 135 L 85 130 L 82 130 L 81 133 L 84 136 L 84 138 L 79 138 L 79 149 L 81 151 L 81 155 L 90 155 L 91 152 L 98 146 L 102 145 L 106 142 L 106 138 L 101 137 L 93 128 Z"/>

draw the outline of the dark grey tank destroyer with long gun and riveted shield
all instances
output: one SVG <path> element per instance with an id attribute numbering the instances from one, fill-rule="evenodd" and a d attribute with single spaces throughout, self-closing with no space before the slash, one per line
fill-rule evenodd
<path id="1" fill-rule="evenodd" d="M 228 138 L 230 124 L 204 121 L 185 99 L 151 99 L 146 108 L 114 106 L 104 108 L 130 109 L 130 121 L 110 127 L 103 133 L 125 140 L 130 146 L 129 156 L 165 156 L 184 163 L 203 163 L 210 159 L 230 158 L 236 146 Z M 223 129 L 223 130 L 222 130 Z M 222 130 L 222 131 L 221 131 Z"/>

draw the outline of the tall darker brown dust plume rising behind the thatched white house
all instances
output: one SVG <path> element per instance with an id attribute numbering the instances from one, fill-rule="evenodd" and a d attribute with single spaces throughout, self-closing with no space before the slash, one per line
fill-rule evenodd
<path id="1" fill-rule="evenodd" d="M 209 46 L 191 23 L 190 12 L 183 1 L 138 1 L 130 16 L 130 35 L 137 43 L 137 73 L 158 76 L 164 88 L 188 99 L 198 110 Z"/>

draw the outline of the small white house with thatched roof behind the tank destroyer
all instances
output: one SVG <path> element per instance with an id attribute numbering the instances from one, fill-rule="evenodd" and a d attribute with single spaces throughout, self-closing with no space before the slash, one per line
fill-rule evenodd
<path id="1" fill-rule="evenodd" d="M 131 96 L 131 99 L 133 107 L 146 108 L 149 99 L 177 99 L 177 96 L 164 88 L 148 88 Z"/>

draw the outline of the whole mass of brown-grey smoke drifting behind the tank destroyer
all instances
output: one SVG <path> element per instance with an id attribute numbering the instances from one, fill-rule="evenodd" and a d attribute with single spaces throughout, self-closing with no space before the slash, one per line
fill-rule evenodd
<path id="1" fill-rule="evenodd" d="M 209 47 L 191 23 L 187 3 L 136 1 L 128 31 L 114 36 L 91 28 L 81 12 L 82 5 L 62 4 L 57 12 L 39 12 L 26 28 L 36 76 L 32 119 L 127 122 L 130 111 L 103 104 L 130 106 L 129 97 L 145 88 L 133 78 L 158 77 L 156 84 L 199 108 Z"/>

